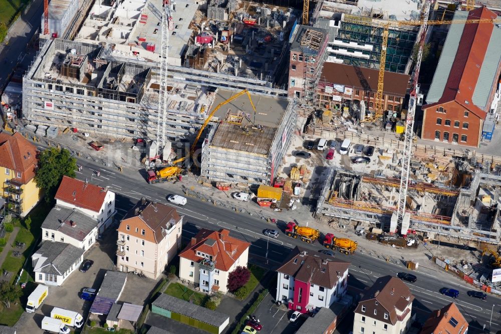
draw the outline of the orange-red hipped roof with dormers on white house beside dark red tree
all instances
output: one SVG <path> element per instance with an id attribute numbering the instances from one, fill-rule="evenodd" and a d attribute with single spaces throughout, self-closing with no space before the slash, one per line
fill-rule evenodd
<path id="1" fill-rule="evenodd" d="M 179 253 L 179 257 L 198 262 L 203 257 L 197 256 L 196 252 L 212 256 L 215 268 L 228 271 L 242 253 L 249 248 L 248 242 L 230 237 L 228 230 L 211 231 L 201 229 L 191 239 L 191 243 Z"/>

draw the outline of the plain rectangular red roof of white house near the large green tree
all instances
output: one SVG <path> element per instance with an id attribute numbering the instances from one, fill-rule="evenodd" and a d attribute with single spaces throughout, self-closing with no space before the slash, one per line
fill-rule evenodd
<path id="1" fill-rule="evenodd" d="M 56 193 L 56 200 L 99 212 L 107 192 L 102 187 L 64 176 Z"/>

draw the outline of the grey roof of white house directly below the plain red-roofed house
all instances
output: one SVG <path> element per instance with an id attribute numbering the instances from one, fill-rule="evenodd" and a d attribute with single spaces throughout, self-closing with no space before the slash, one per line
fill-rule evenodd
<path id="1" fill-rule="evenodd" d="M 71 225 L 74 223 L 74 226 Z M 42 228 L 59 231 L 82 241 L 97 226 L 97 219 L 80 211 L 56 205 L 44 220 Z"/>

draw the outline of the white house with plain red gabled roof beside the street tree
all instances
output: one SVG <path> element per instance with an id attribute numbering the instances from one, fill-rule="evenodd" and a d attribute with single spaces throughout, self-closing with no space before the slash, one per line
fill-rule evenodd
<path id="1" fill-rule="evenodd" d="M 96 219 L 99 233 L 108 228 L 117 213 L 115 193 L 108 188 L 92 185 L 85 181 L 63 177 L 56 193 L 56 204 L 77 209 Z"/>

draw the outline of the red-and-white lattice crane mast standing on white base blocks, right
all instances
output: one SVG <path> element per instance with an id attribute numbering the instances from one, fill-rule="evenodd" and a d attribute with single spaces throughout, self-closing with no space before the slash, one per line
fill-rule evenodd
<path id="1" fill-rule="evenodd" d="M 392 217 L 390 226 L 391 232 L 396 232 L 398 227 L 400 227 L 400 233 L 403 235 L 407 234 L 410 225 L 410 213 L 406 214 L 405 205 L 407 199 L 407 189 L 409 186 L 410 158 L 412 156 L 412 137 L 413 137 L 412 131 L 414 128 L 414 116 L 416 114 L 416 105 L 419 93 L 419 86 L 417 84 L 417 80 L 419 77 L 419 70 L 421 68 L 421 60 L 423 58 L 424 39 L 426 38 L 426 29 L 428 27 L 429 6 L 430 6 L 429 1 L 426 1 L 423 8 L 423 20 L 422 20 L 423 24 L 421 30 L 421 37 L 419 41 L 419 51 L 416 59 L 416 66 L 414 67 L 414 73 L 412 76 L 409 108 L 405 120 L 402 173 L 400 175 L 400 191 L 398 193 L 398 208 L 397 208 L 396 222 L 394 222 L 395 219 L 394 217 Z"/>

